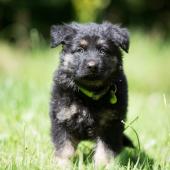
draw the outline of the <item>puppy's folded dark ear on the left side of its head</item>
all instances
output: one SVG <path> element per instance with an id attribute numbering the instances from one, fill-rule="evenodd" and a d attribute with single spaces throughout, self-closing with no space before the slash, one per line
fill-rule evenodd
<path id="1" fill-rule="evenodd" d="M 75 34 L 75 30 L 69 25 L 53 25 L 50 34 L 51 47 L 54 48 L 60 44 L 65 44 Z"/>

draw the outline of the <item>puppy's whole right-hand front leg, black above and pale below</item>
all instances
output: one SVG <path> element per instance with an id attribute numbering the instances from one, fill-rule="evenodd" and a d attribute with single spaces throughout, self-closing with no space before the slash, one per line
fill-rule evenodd
<path id="1" fill-rule="evenodd" d="M 113 121 L 112 125 L 103 129 L 103 133 L 97 140 L 96 152 L 94 155 L 95 165 L 109 165 L 123 147 L 123 124 L 120 121 Z"/>

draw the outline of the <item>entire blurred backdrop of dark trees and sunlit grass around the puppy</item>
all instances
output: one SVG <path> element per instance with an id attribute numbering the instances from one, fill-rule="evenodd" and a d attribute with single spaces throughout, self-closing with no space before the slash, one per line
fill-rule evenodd
<path id="1" fill-rule="evenodd" d="M 168 0 L 0 0 L 0 170 L 56 169 L 48 111 L 61 48 L 50 49 L 50 26 L 103 20 L 131 34 L 125 133 L 138 148 L 135 130 L 141 146 L 125 149 L 111 169 L 169 170 L 169 18 Z M 90 150 L 80 144 L 74 169 L 93 169 L 83 162 Z"/>

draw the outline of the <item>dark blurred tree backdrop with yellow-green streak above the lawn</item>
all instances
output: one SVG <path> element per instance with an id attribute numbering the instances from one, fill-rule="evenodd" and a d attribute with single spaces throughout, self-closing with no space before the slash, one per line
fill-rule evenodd
<path id="1" fill-rule="evenodd" d="M 142 28 L 167 37 L 170 30 L 169 0 L 0 0 L 0 38 L 31 45 L 38 31 L 49 39 L 54 23 L 109 20 Z"/>

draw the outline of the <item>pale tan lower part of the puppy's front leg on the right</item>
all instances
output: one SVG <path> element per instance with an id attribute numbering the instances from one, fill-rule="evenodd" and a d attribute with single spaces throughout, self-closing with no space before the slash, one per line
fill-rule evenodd
<path id="1" fill-rule="evenodd" d="M 100 138 L 97 139 L 94 163 L 95 167 L 99 168 L 102 166 L 109 165 L 111 159 L 114 158 L 114 152 L 108 147 L 108 145 Z"/>

